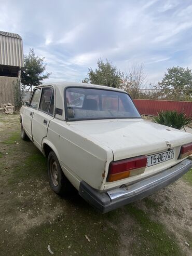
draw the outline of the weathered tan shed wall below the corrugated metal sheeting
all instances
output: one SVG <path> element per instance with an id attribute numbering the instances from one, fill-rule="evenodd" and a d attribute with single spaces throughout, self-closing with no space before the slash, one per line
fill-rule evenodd
<path id="1" fill-rule="evenodd" d="M 14 105 L 13 82 L 17 82 L 17 77 L 0 76 L 0 104 L 8 102 Z"/>

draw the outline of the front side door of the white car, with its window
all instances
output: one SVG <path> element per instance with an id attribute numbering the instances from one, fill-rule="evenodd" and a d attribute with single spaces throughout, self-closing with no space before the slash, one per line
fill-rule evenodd
<path id="1" fill-rule="evenodd" d="M 34 112 L 37 110 L 39 105 L 40 92 L 41 92 L 41 88 L 34 89 L 29 106 L 24 107 L 24 110 L 23 110 L 23 128 L 31 140 L 32 140 L 32 118 L 33 118 Z"/>

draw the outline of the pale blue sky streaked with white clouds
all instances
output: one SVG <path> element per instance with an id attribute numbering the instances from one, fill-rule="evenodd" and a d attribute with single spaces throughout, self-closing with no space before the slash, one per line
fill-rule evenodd
<path id="1" fill-rule="evenodd" d="M 172 66 L 192 69 L 192 0 L 0 0 L 0 14 L 24 54 L 45 57 L 51 82 L 81 82 L 99 58 L 121 71 L 144 63 L 148 84 Z"/>

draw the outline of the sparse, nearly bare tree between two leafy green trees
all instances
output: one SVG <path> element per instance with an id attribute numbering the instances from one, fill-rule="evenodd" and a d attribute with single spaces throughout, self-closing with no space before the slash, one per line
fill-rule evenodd
<path id="1" fill-rule="evenodd" d="M 129 66 L 128 72 L 125 72 L 123 88 L 133 99 L 140 97 L 140 89 L 145 83 L 146 73 L 144 64 L 133 63 L 132 66 Z"/>

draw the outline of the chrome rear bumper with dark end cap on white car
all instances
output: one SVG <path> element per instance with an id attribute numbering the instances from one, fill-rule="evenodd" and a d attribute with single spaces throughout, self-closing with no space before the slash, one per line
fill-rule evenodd
<path id="1" fill-rule="evenodd" d="M 153 194 L 155 191 L 179 179 L 191 167 L 192 161 L 185 159 L 181 163 L 152 177 L 102 193 L 89 186 L 86 182 L 81 181 L 79 195 L 100 212 L 105 213 Z"/>

